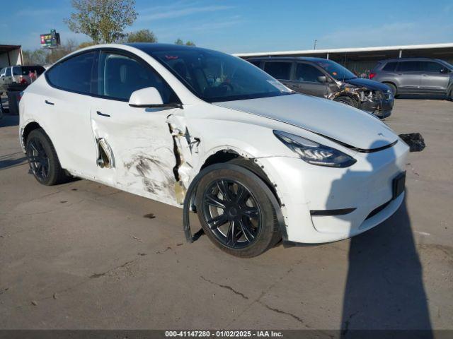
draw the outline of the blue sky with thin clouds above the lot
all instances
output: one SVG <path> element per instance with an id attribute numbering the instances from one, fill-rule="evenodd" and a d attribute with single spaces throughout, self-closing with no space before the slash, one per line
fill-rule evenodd
<path id="1" fill-rule="evenodd" d="M 0 44 L 40 48 L 52 28 L 62 42 L 89 41 L 63 22 L 70 0 L 3 4 Z M 136 0 L 135 8 L 126 32 L 147 28 L 159 42 L 180 38 L 227 53 L 313 49 L 314 40 L 317 49 L 453 42 L 452 0 Z"/>

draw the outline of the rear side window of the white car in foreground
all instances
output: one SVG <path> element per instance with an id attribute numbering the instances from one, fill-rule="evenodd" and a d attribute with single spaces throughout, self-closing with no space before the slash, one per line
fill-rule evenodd
<path id="1" fill-rule="evenodd" d="M 59 62 L 47 71 L 47 81 L 62 90 L 90 93 L 94 54 L 95 52 L 79 54 Z"/>

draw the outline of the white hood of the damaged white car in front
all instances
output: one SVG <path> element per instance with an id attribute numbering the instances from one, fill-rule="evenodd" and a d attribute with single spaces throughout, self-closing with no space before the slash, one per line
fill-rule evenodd
<path id="1" fill-rule="evenodd" d="M 281 95 L 213 105 L 285 122 L 360 150 L 382 148 L 398 140 L 394 131 L 372 114 L 309 95 Z"/>

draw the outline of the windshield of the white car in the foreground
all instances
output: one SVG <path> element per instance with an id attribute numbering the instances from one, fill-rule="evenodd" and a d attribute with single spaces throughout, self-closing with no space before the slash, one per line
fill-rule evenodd
<path id="1" fill-rule="evenodd" d="M 293 93 L 268 73 L 229 54 L 197 47 L 154 51 L 197 97 L 207 102 L 275 97 Z"/>

